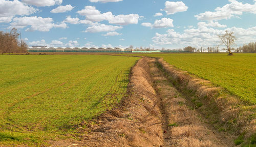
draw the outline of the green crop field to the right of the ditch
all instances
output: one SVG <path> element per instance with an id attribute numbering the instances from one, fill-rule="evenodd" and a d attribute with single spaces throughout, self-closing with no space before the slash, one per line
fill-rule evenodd
<path id="1" fill-rule="evenodd" d="M 224 87 L 232 95 L 256 104 L 256 54 L 170 53 L 137 54 L 163 57 L 170 65 Z"/>

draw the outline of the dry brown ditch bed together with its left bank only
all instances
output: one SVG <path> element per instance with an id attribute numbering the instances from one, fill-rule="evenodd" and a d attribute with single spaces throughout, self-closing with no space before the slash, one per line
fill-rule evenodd
<path id="1" fill-rule="evenodd" d="M 207 105 L 186 91 L 177 90 L 170 78 L 159 68 L 155 58 L 142 58 L 132 69 L 127 96 L 116 108 L 91 122 L 81 123 L 80 141 L 51 141 L 49 144 L 234 146 L 235 136 L 210 123 L 211 116 L 203 111 Z"/>

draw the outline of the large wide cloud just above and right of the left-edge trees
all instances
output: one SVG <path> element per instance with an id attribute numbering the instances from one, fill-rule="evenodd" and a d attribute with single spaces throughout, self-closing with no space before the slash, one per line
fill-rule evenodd
<path id="1" fill-rule="evenodd" d="M 66 28 L 66 23 L 55 24 L 53 23 L 52 18 L 42 18 L 37 16 L 32 17 L 16 17 L 13 18 L 13 22 L 10 23 L 9 28 L 24 28 L 30 26 L 26 29 L 26 31 L 41 31 L 41 32 L 49 32 L 53 27 L 61 27 Z"/>

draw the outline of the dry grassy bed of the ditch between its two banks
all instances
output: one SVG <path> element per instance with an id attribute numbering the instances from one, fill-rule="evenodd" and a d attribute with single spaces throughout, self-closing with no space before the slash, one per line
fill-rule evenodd
<path id="1" fill-rule="evenodd" d="M 233 136 L 205 123 L 209 121 L 197 111 L 203 103 L 194 103 L 194 97 L 179 92 L 164 76 L 166 73 L 157 68 L 154 58 L 150 67 L 164 114 L 164 146 L 234 146 Z"/>

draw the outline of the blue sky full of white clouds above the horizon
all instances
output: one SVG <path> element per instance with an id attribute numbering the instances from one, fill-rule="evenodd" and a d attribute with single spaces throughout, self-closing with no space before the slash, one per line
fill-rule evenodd
<path id="1" fill-rule="evenodd" d="M 256 41 L 256 0 L 0 0 L 0 31 L 17 28 L 29 46 L 216 47 Z"/>

